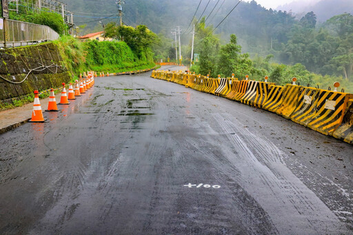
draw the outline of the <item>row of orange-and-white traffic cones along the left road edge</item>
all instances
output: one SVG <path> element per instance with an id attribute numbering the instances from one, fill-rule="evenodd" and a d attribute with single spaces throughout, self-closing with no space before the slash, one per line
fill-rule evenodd
<path id="1" fill-rule="evenodd" d="M 61 91 L 60 103 L 58 105 L 70 105 L 69 100 L 75 100 L 76 96 L 85 94 L 85 91 L 90 89 L 94 85 L 94 72 L 89 72 L 87 79 L 83 79 L 80 82 L 76 80 L 75 89 L 72 87 L 72 83 L 69 86 L 69 92 L 66 93 L 65 83 L 63 83 L 63 90 Z M 49 103 L 47 112 L 58 112 L 57 101 L 54 95 L 54 89 L 50 89 Z M 30 122 L 43 123 L 45 121 L 43 112 L 41 111 L 41 103 L 39 102 L 39 92 L 34 90 L 34 104 L 32 119 Z"/>

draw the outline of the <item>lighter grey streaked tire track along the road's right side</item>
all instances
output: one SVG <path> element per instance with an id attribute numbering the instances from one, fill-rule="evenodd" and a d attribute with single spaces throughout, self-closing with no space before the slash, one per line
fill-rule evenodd
<path id="1" fill-rule="evenodd" d="M 240 154 L 243 155 L 234 161 L 234 164 L 239 165 L 242 178 L 246 182 L 239 183 L 268 212 L 281 234 L 288 233 L 288 227 L 302 227 L 303 234 L 349 233 L 334 213 L 299 178 L 292 174 L 283 161 L 277 161 L 282 153 L 276 146 L 270 141 L 255 136 L 243 127 L 242 123 L 234 118 L 230 119 L 228 114 L 216 113 L 212 116 L 221 127 L 221 133 L 227 134 L 232 147 L 240 150 Z M 264 149 L 265 152 L 256 147 L 259 143 L 268 146 Z M 273 153 L 275 156 L 272 156 Z M 259 161 L 263 159 L 264 154 L 270 158 L 266 164 Z M 256 183 L 259 181 L 256 178 L 258 174 L 265 181 L 265 184 L 262 183 L 262 188 L 259 188 Z M 282 201 L 283 204 L 274 209 L 276 201 Z M 294 220 L 292 216 L 295 214 Z M 299 231 L 300 229 L 290 231 L 290 233 L 295 234 Z"/>

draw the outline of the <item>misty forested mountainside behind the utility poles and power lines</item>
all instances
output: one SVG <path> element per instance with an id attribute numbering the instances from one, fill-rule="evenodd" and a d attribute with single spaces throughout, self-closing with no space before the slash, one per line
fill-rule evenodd
<path id="1" fill-rule="evenodd" d="M 79 12 L 101 12 L 105 14 L 116 13 L 115 1 L 77 0 L 66 1 L 68 7 Z M 208 1 L 202 1 L 196 23 Z M 223 3 L 223 4 L 222 4 Z M 333 4 L 334 3 L 334 4 Z M 339 1 L 341 3 L 341 0 Z M 319 1 L 317 6 L 331 6 L 330 12 L 341 9 L 336 1 Z M 128 25 L 147 25 L 152 31 L 158 32 L 161 42 L 154 46 L 155 59 L 174 59 L 172 48 L 172 35 L 170 29 L 181 26 L 183 34 L 182 54 L 188 63 L 191 48 L 190 20 L 199 4 L 199 0 L 130 0 L 126 1 L 124 8 L 124 23 Z M 205 28 L 212 28 L 230 12 L 236 2 L 225 0 L 210 1 L 204 12 L 203 21 Z M 328 4 L 328 5 L 327 5 Z M 338 6 L 335 6 L 338 5 Z M 342 3 L 343 6 L 347 4 Z M 342 5 L 341 4 L 341 5 Z M 216 8 L 214 8 L 216 6 Z M 212 9 L 214 11 L 211 13 Z M 317 8 L 319 9 L 319 8 Z M 350 10 L 349 8 L 347 10 Z M 315 12 L 306 12 L 297 18 L 292 12 L 281 10 L 268 10 L 257 4 L 256 1 L 241 2 L 225 21 L 214 31 L 219 34 L 219 45 L 229 41 L 230 34 L 236 34 L 237 43 L 243 52 L 249 54 L 251 59 L 262 57 L 265 59 L 272 55 L 271 61 L 296 65 L 301 63 L 304 68 L 315 74 L 326 77 L 339 77 L 342 81 L 353 81 L 353 17 L 349 13 L 336 15 L 323 23 L 317 22 Z M 322 14 L 322 10 L 320 12 Z M 86 16 L 88 14 L 85 14 Z M 94 15 L 97 17 L 97 15 Z M 114 14 L 113 17 L 117 15 Z M 87 18 L 76 17 L 77 22 L 88 21 Z M 86 29 L 100 27 L 97 20 L 90 19 Z M 117 21 L 117 19 L 103 19 L 103 23 Z M 201 22 L 198 21 L 199 23 Z M 188 31 L 185 31 L 188 28 Z M 196 35 L 200 34 L 196 28 Z M 199 37 L 199 40 L 201 37 Z M 199 41 L 196 40 L 196 44 Z M 163 44 L 163 45 L 161 45 Z M 195 53 L 199 48 L 196 46 Z M 331 81 L 330 81 L 331 82 Z"/>

